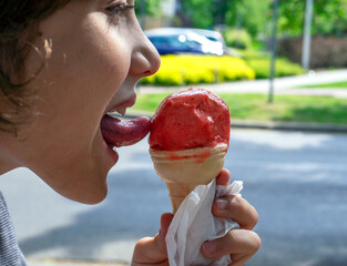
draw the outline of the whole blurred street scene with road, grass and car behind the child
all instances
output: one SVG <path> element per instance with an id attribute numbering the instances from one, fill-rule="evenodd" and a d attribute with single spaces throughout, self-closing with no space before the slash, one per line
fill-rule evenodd
<path id="1" fill-rule="evenodd" d="M 347 265 L 347 0 L 137 0 L 162 66 L 137 85 L 127 112 L 153 115 L 190 86 L 231 110 L 225 167 L 244 181 L 263 245 L 246 264 Z M 110 193 L 70 202 L 33 173 L 1 176 L 31 265 L 130 265 L 141 237 L 170 212 L 146 140 L 120 150 Z M 24 198 L 24 200 L 23 200 Z"/>

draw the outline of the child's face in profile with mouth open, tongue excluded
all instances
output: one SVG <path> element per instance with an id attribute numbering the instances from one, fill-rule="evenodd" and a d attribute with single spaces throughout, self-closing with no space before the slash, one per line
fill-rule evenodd
<path id="1" fill-rule="evenodd" d="M 18 157 L 74 201 L 98 203 L 105 197 L 106 174 L 118 154 L 106 145 L 100 122 L 106 112 L 133 104 L 137 80 L 160 65 L 126 4 L 134 2 L 72 1 L 40 24 L 37 45 L 50 59 L 30 83 L 38 88 L 39 114 L 20 132 L 24 137 Z M 31 52 L 28 75 L 41 63 L 40 54 Z"/>

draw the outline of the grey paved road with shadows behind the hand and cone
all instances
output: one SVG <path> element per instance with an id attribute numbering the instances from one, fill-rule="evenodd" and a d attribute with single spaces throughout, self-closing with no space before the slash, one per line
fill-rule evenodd
<path id="1" fill-rule="evenodd" d="M 120 153 L 95 206 L 62 198 L 23 168 L 1 176 L 27 257 L 129 263 L 136 239 L 156 233 L 171 206 L 147 144 Z M 261 217 L 263 246 L 248 265 L 347 265 L 346 134 L 233 130 L 226 167 Z"/>

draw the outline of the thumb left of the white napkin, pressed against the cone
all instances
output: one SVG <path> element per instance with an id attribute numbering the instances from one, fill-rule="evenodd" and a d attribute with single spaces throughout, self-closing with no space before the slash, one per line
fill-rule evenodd
<path id="1" fill-rule="evenodd" d="M 167 259 L 165 236 L 173 214 L 164 213 L 161 217 L 160 232 L 154 237 L 145 237 L 137 242 L 132 265 L 162 263 Z"/>

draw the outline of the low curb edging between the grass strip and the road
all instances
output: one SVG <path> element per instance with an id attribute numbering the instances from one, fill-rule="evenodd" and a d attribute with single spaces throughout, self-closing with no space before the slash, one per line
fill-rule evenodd
<path id="1" fill-rule="evenodd" d="M 121 117 L 115 114 L 114 116 Z M 139 116 L 149 116 L 153 119 L 151 112 L 127 111 L 123 119 L 135 119 Z M 325 123 L 300 123 L 300 122 L 272 122 L 272 121 L 248 121 L 233 120 L 232 129 L 254 129 L 254 130 L 282 130 L 282 131 L 307 131 L 307 132 L 327 132 L 327 133 L 347 133 L 345 124 L 325 124 Z"/>

